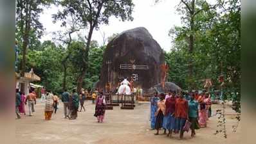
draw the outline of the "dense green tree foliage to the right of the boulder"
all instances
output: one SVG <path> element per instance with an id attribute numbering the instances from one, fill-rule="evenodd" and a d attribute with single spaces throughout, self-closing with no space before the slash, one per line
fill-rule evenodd
<path id="1" fill-rule="evenodd" d="M 233 100 L 240 111 L 241 97 L 241 2 L 218 1 L 215 6 L 196 1 L 196 9 L 203 8 L 194 16 L 194 51 L 188 52 L 189 17 L 186 8 L 179 7 L 183 26 L 169 31 L 174 47 L 165 54 L 170 65 L 169 80 L 183 89 L 203 89 L 203 80 L 212 79 L 214 89 L 220 90 L 218 77 L 224 76 L 224 99 Z M 188 76 L 192 58 L 193 77 Z M 189 82 L 192 81 L 192 85 Z"/>

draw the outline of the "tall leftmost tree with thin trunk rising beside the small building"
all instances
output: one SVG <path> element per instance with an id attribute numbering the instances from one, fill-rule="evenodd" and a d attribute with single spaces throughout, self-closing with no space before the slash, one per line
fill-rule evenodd
<path id="1" fill-rule="evenodd" d="M 42 35 L 42 24 L 39 22 L 39 15 L 42 12 L 42 6 L 47 6 L 51 0 L 16 0 L 16 35 L 19 33 L 21 42 L 23 59 L 21 67 L 21 76 L 24 76 L 26 71 L 26 51 L 31 43 L 37 40 Z M 30 35 L 34 36 L 30 36 Z M 38 43 L 39 41 L 37 41 Z M 37 45 L 38 46 L 38 45 Z M 21 85 L 21 91 L 24 90 L 24 84 Z"/>

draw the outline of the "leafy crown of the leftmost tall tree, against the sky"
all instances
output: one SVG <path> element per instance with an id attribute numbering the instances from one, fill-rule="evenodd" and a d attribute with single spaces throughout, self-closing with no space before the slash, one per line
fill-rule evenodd
<path id="1" fill-rule="evenodd" d="M 51 3 L 53 0 L 16 0 L 16 39 L 20 43 L 27 35 L 28 47 L 30 49 L 39 47 L 38 38 L 42 36 L 44 30 L 39 16 L 43 11 L 43 6 L 50 6 Z"/>

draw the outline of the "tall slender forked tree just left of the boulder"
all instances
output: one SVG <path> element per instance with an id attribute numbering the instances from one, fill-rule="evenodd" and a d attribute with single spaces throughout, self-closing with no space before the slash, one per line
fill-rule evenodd
<path id="1" fill-rule="evenodd" d="M 59 1 L 59 4 L 63 7 L 63 10 L 53 16 L 55 20 L 61 20 L 62 24 L 65 25 L 68 16 L 72 13 L 72 15 L 77 17 L 78 23 L 88 30 L 85 36 L 86 44 L 81 51 L 83 64 L 81 65 L 82 69 L 77 79 L 77 91 L 79 92 L 88 68 L 88 55 L 93 31 L 98 29 L 101 24 L 108 24 L 109 17 L 112 15 L 114 17 L 120 17 L 122 20 L 133 20 L 131 13 L 134 4 L 131 0 L 62 0 Z"/>

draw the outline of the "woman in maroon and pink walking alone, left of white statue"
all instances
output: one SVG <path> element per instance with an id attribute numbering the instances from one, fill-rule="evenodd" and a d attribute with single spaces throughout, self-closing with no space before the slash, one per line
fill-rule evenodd
<path id="1" fill-rule="evenodd" d="M 97 118 L 98 122 L 102 123 L 105 117 L 105 95 L 100 92 L 100 95 L 96 99 L 96 106 L 95 106 L 95 117 Z"/>

